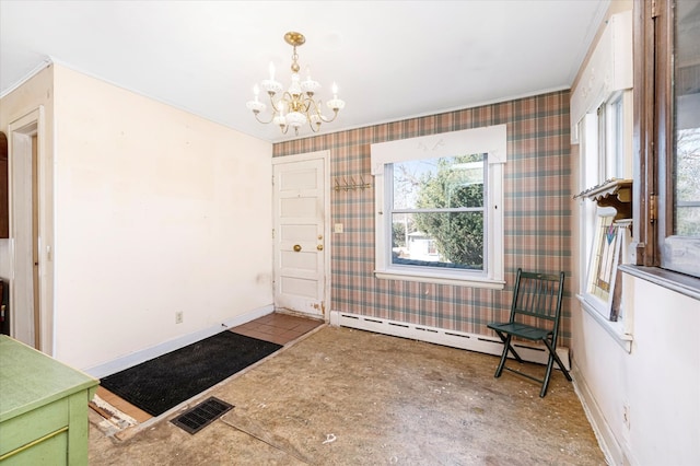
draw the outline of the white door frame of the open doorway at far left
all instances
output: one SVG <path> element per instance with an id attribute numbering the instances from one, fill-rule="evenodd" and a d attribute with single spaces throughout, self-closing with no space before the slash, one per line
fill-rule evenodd
<path id="1" fill-rule="evenodd" d="M 12 317 L 10 321 L 11 333 L 16 333 L 16 318 L 14 317 L 18 312 L 16 296 L 20 294 L 20 290 L 16 288 L 16 264 L 18 264 L 18 251 L 16 251 L 16 237 L 18 237 L 18 222 L 16 222 L 16 201 L 19 196 L 19 186 L 21 180 L 16 178 L 14 165 L 15 163 L 26 163 L 26 158 L 36 158 L 36 187 L 37 199 L 33 199 L 33 202 L 38 203 L 38 224 L 36 225 L 38 232 L 37 244 L 34 244 L 34 238 L 31 238 L 31 244 L 36 247 L 38 257 L 38 283 L 34 283 L 34 275 L 30 273 L 30 277 L 24 277 L 25 280 L 38 286 L 38 323 L 34 322 L 35 331 L 38 330 L 38 338 L 35 335 L 36 349 L 43 351 L 49 356 L 54 354 L 54 269 L 52 269 L 52 196 L 49 190 L 49 179 L 52 175 L 52 166 L 47 158 L 47 136 L 46 136 L 46 117 L 43 105 L 37 108 L 14 118 L 10 125 L 8 125 L 8 144 L 9 144 L 9 158 L 8 158 L 8 172 L 9 172 L 9 210 L 10 210 L 10 312 Z M 36 148 L 33 153 L 32 138 L 36 137 Z M 22 159 L 23 162 L 20 162 Z M 31 161 L 32 159 L 30 159 Z M 30 172 L 31 173 L 31 172 Z M 31 213 L 30 213 L 31 215 Z M 32 233 L 30 232 L 30 235 Z M 33 267 L 30 268 L 33 270 Z"/>

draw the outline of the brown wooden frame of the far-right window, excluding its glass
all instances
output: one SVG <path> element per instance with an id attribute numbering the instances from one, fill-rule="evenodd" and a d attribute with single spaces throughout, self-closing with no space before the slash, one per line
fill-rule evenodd
<path id="1" fill-rule="evenodd" d="M 698 237 L 675 235 L 674 56 L 679 0 L 634 1 L 633 241 L 637 266 L 700 277 Z"/>

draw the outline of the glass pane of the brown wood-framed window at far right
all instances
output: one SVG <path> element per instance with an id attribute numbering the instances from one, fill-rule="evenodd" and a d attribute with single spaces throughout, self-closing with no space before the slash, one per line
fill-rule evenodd
<path id="1" fill-rule="evenodd" d="M 674 234 L 700 236 L 700 3 L 676 2 Z"/>

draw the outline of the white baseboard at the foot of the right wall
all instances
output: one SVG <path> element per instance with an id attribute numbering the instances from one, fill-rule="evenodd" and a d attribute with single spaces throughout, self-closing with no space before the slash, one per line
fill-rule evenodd
<path id="1" fill-rule="evenodd" d="M 625 454 L 622 445 L 620 445 L 615 433 L 612 433 L 612 429 L 610 429 L 610 426 L 605 420 L 603 410 L 596 403 L 593 393 L 586 384 L 585 377 L 575 363 L 571 370 L 571 376 L 573 377 L 573 388 L 581 400 L 586 418 L 588 418 L 591 428 L 598 440 L 598 445 L 600 445 L 600 450 L 605 455 L 606 463 L 608 465 L 629 465 L 630 462 Z"/>

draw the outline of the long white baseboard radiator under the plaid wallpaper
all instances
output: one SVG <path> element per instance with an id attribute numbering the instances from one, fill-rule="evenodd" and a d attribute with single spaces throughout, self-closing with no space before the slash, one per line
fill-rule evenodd
<path id="1" fill-rule="evenodd" d="M 503 352 L 503 342 L 495 336 L 489 337 L 486 335 L 446 330 L 444 328 L 430 327 L 427 325 L 408 324 L 405 322 L 388 321 L 339 311 L 330 312 L 330 325 L 427 341 L 430 343 L 460 348 L 487 354 L 501 356 Z M 547 348 L 544 346 L 523 345 L 520 342 L 516 342 L 513 346 L 521 358 L 525 361 L 547 364 L 548 352 Z M 570 370 L 569 348 L 557 348 L 557 354 L 559 354 L 559 358 L 567 366 L 567 370 Z M 555 364 L 555 369 L 558 369 L 557 364 Z"/>

